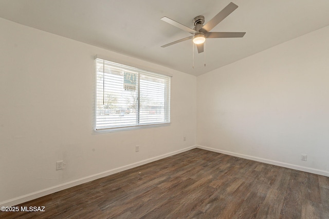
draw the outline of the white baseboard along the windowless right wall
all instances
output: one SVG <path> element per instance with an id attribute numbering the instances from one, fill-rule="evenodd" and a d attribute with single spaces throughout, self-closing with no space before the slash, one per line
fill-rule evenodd
<path id="1" fill-rule="evenodd" d="M 241 158 L 245 158 L 248 160 L 258 161 L 258 162 L 262 162 L 262 163 L 266 163 L 266 164 L 272 164 L 272 165 L 276 165 L 276 166 L 280 166 L 280 167 L 286 167 L 286 168 L 290 168 L 290 169 L 294 169 L 294 170 L 300 170 L 300 171 L 304 171 L 304 172 L 315 173 L 318 175 L 329 176 L 329 172 L 324 171 L 324 170 L 303 167 L 303 166 L 283 163 L 283 162 L 279 162 L 279 161 L 267 160 L 267 159 L 260 158 L 260 157 L 249 156 L 249 155 L 245 155 L 245 154 L 234 153 L 234 152 L 230 152 L 230 151 L 224 151 L 224 150 L 209 148 L 209 147 L 200 146 L 200 145 L 197 145 L 196 148 L 213 151 L 213 152 L 217 152 L 217 153 L 223 153 L 223 154 L 227 154 L 227 155 L 231 155 L 231 156 L 241 157 Z"/>

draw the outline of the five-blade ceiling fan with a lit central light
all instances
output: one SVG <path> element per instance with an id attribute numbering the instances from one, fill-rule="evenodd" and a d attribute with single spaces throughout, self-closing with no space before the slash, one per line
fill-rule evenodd
<path id="1" fill-rule="evenodd" d="M 228 37 L 243 37 L 246 32 L 209 32 L 212 30 L 217 24 L 219 24 L 225 17 L 227 17 L 230 13 L 232 13 L 238 6 L 234 3 L 228 4 L 222 11 L 216 14 L 207 24 L 205 23 L 205 17 L 203 15 L 196 16 L 193 19 L 194 29 L 191 29 L 185 25 L 182 25 L 169 17 L 162 17 L 161 20 L 171 24 L 175 27 L 178 27 L 181 30 L 187 31 L 192 34 L 192 36 L 188 36 L 182 39 L 178 39 L 178 41 L 174 41 L 172 43 L 163 45 L 161 47 L 167 47 L 174 45 L 176 43 L 180 43 L 183 41 L 187 41 L 188 39 L 193 38 L 193 43 L 197 47 L 198 53 L 204 51 L 204 43 L 206 38 L 228 38 Z"/>

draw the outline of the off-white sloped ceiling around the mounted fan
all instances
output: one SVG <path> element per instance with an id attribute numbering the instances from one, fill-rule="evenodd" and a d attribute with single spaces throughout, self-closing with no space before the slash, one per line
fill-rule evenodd
<path id="1" fill-rule="evenodd" d="M 160 47 L 190 36 L 161 21 L 161 17 L 193 28 L 195 16 L 204 15 L 207 23 L 229 3 L 229 0 L 0 0 L 0 17 L 193 75 L 329 25 L 328 0 L 233 0 L 239 8 L 212 31 L 247 32 L 243 38 L 207 39 L 205 53 L 198 54 L 194 49 L 194 69 L 192 40 Z"/>

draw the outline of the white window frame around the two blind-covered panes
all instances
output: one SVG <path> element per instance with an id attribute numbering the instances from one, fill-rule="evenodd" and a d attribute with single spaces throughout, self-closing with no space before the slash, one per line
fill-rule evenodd
<path id="1" fill-rule="evenodd" d="M 104 126 L 100 126 L 98 123 L 98 75 L 99 75 L 99 70 L 98 70 L 98 64 L 97 62 L 102 61 L 103 62 L 103 69 L 105 68 L 105 66 L 107 66 L 107 68 L 113 67 L 111 66 L 112 64 L 119 67 L 122 67 L 122 72 L 125 71 L 135 71 L 137 72 L 137 108 L 136 111 L 136 124 L 134 125 L 112 125 L 111 124 L 106 124 Z M 106 65 L 106 64 L 111 64 L 111 65 Z M 105 71 L 103 70 L 103 73 L 105 74 Z M 108 73 L 111 74 L 111 73 Z M 140 122 L 140 116 L 141 116 L 141 111 L 140 111 L 140 75 L 143 75 L 144 77 L 152 77 L 154 76 L 154 78 L 158 77 L 158 78 L 162 78 L 165 79 L 165 83 L 163 83 L 163 121 L 162 122 L 150 122 L 150 123 L 141 123 Z M 102 58 L 102 57 L 97 57 L 95 56 L 95 126 L 94 126 L 94 130 L 97 132 L 103 132 L 103 131 L 120 131 L 120 130 L 132 130 L 132 129 L 140 129 L 140 128 L 150 128 L 150 127 L 162 127 L 162 126 L 168 126 L 171 124 L 171 75 L 168 74 L 161 74 L 161 73 L 157 73 L 157 72 L 152 72 L 152 71 L 148 71 L 148 70 L 144 70 L 144 69 L 140 69 L 137 67 L 133 67 L 133 66 L 128 66 L 128 65 L 123 65 L 120 63 L 116 63 L 116 62 L 112 62 L 109 61 L 108 59 Z M 104 81 L 104 76 L 103 76 L 103 81 Z M 103 89 L 104 89 L 103 85 Z M 124 91 L 121 91 L 121 95 L 123 94 Z M 104 92 L 103 92 L 103 97 L 104 99 Z"/>

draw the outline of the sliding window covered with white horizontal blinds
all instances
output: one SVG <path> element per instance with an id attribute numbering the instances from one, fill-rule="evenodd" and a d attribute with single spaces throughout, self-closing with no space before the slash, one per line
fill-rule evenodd
<path id="1" fill-rule="evenodd" d="M 170 76 L 96 59 L 96 130 L 170 123 Z"/>

